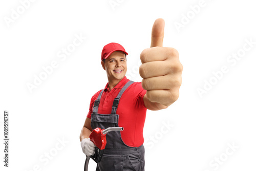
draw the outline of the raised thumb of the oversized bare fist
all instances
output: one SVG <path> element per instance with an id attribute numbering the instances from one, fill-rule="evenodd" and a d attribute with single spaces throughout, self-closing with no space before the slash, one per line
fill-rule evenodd
<path id="1" fill-rule="evenodd" d="M 163 35 L 164 35 L 164 20 L 158 18 L 152 27 L 151 34 L 151 48 L 152 47 L 163 47 Z"/>

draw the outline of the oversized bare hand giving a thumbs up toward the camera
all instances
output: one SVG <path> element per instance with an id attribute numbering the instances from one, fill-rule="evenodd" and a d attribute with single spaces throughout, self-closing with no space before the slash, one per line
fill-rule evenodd
<path id="1" fill-rule="evenodd" d="M 147 109 L 167 108 L 179 97 L 182 65 L 178 51 L 163 46 L 164 20 L 158 18 L 152 28 L 151 48 L 140 54 L 139 68 L 142 88 L 146 90 L 144 103 Z"/>

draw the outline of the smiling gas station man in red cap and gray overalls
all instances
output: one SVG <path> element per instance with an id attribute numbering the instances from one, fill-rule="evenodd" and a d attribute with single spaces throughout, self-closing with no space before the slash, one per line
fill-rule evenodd
<path id="1" fill-rule="evenodd" d="M 116 43 L 104 46 L 102 68 L 108 76 L 105 88 L 91 99 L 80 134 L 83 153 L 90 156 L 95 145 L 89 135 L 96 127 L 122 126 L 106 135 L 106 147 L 96 170 L 144 170 L 143 126 L 146 110 L 166 109 L 179 97 L 182 65 L 177 50 L 163 48 L 164 20 L 152 28 L 151 48 L 140 54 L 142 82 L 125 77 L 125 49 Z"/>

